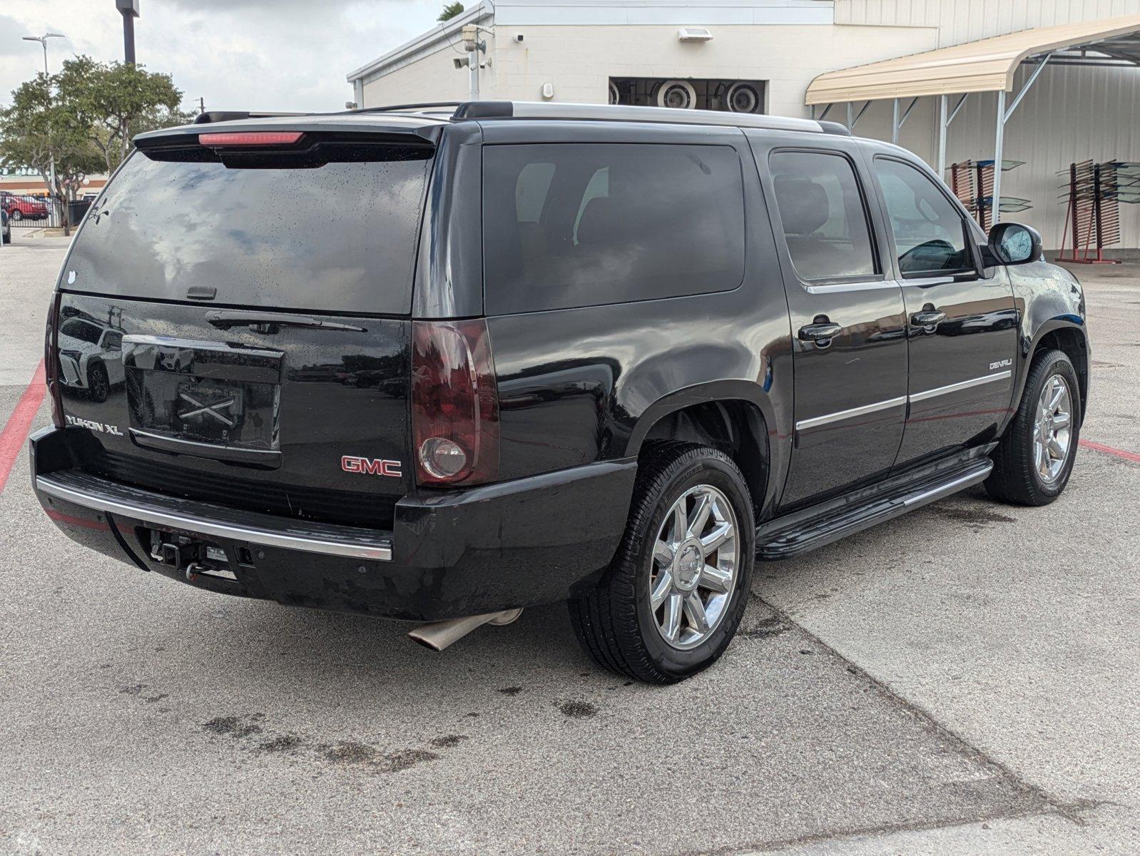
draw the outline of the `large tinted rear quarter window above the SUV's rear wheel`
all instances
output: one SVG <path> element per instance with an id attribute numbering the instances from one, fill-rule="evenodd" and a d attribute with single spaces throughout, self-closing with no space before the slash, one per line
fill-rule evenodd
<path id="1" fill-rule="evenodd" d="M 489 315 L 731 291 L 744 188 L 730 146 L 483 149 Z"/>

